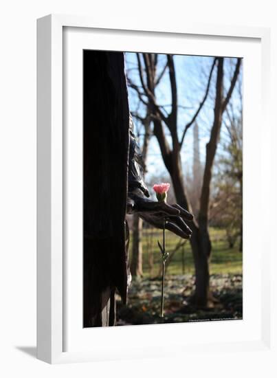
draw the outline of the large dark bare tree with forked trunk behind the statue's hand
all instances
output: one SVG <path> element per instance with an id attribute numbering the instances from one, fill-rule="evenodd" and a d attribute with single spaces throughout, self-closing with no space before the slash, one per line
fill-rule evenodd
<path id="1" fill-rule="evenodd" d="M 143 59 L 143 61 L 142 61 Z M 131 87 L 137 91 L 137 96 L 140 100 L 148 105 L 151 111 L 151 118 L 153 120 L 153 133 L 157 137 L 162 159 L 170 174 L 175 190 L 175 197 L 177 203 L 187 210 L 190 210 L 190 201 L 186 193 L 186 186 L 184 183 L 184 175 L 181 168 L 181 147 L 184 144 L 186 133 L 188 129 L 195 123 L 203 104 L 205 104 L 208 97 L 210 85 L 212 82 L 212 74 L 217 68 L 216 82 L 215 82 L 215 100 L 214 100 L 214 119 L 210 131 L 210 140 L 206 146 L 206 163 L 203 173 L 203 185 L 201 188 L 199 217 L 192 222 L 192 237 L 190 243 L 192 246 L 192 254 L 195 263 L 195 303 L 198 306 L 206 307 L 210 304 L 210 289 L 209 289 L 209 257 L 211 252 L 210 236 L 208 232 L 208 208 L 210 200 L 210 182 L 212 179 L 212 166 L 214 163 L 214 156 L 217 151 L 217 142 L 219 140 L 219 133 L 223 119 L 223 113 L 232 96 L 236 80 L 239 75 L 241 59 L 238 58 L 236 67 L 230 81 L 230 87 L 226 93 L 223 94 L 223 79 L 224 58 L 214 58 L 212 66 L 210 67 L 210 74 L 206 84 L 203 98 L 199 103 L 199 107 L 192 116 L 190 122 L 184 126 L 184 131 L 181 135 L 181 140 L 178 137 L 177 129 L 177 112 L 178 112 L 178 96 L 177 96 L 177 82 L 175 73 L 175 63 L 173 55 L 166 56 L 166 68 L 168 70 L 171 91 L 171 107 L 170 113 L 157 103 L 155 89 L 159 77 L 157 77 L 157 56 L 155 54 L 137 54 L 137 69 L 140 77 L 140 85 L 135 85 L 129 80 Z M 165 129 L 169 131 L 171 137 L 171 146 L 166 138 Z"/>

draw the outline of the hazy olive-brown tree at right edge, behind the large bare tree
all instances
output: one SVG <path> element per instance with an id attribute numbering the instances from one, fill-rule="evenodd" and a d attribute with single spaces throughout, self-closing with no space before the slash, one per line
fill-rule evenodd
<path id="1" fill-rule="evenodd" d="M 238 91 L 241 86 L 238 86 Z M 231 101 L 223 122 L 221 153 L 217 159 L 217 175 L 214 196 L 210 205 L 210 219 L 214 225 L 226 230 L 229 246 L 234 247 L 240 238 L 239 250 L 243 249 L 243 109 Z"/>

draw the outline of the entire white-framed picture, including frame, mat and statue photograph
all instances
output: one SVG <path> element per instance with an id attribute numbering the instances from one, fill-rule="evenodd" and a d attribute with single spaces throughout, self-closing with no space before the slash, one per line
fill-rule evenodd
<path id="1" fill-rule="evenodd" d="M 270 352 L 270 32 L 128 22 L 38 19 L 38 358 Z"/>

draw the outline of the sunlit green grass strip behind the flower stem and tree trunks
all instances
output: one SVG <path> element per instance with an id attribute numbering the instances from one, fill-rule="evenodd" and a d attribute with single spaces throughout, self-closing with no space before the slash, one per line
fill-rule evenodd
<path id="1" fill-rule="evenodd" d="M 243 268 L 243 254 L 239 252 L 239 241 L 234 248 L 228 246 L 225 238 L 225 231 L 215 228 L 210 229 L 212 241 L 212 255 L 210 259 L 210 274 L 241 274 Z M 144 230 L 142 237 L 143 245 L 143 268 L 144 276 L 151 277 L 157 275 L 161 263 L 161 255 L 157 246 L 157 240 L 162 242 L 162 231 Z M 175 248 L 179 237 L 172 232 L 166 232 L 166 250 L 168 252 Z M 131 252 L 131 247 L 130 247 Z M 149 258 L 153 258 L 153 268 L 149 267 Z M 189 241 L 184 245 L 184 252 L 179 249 L 175 252 L 167 273 L 193 274 L 194 265 L 192 251 Z"/>

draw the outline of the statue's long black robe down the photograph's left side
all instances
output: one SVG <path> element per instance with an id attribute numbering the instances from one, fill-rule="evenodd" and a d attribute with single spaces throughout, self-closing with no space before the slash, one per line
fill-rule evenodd
<path id="1" fill-rule="evenodd" d="M 115 324 L 115 290 L 124 302 L 127 290 L 124 54 L 84 50 L 83 69 L 83 325 L 108 326 Z"/>

